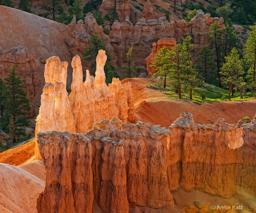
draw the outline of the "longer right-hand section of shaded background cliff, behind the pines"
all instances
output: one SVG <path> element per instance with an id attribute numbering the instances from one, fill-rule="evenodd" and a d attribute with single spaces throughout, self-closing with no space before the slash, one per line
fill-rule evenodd
<path id="1" fill-rule="evenodd" d="M 197 11 L 196 16 L 187 24 L 185 20 L 178 22 L 171 19 L 170 22 L 165 17 L 158 20 L 146 20 L 141 18 L 135 26 L 129 20 L 122 23 L 115 21 L 110 31 L 110 43 L 115 48 L 118 56 L 117 65 L 121 66 L 126 61 L 126 52 L 133 43 L 135 63 L 146 65 L 144 59 L 148 57 L 152 50 L 152 44 L 161 38 L 175 38 L 180 40 L 186 35 L 192 35 L 195 51 L 200 51 L 207 45 L 207 31 L 210 25 L 216 21 L 220 28 L 224 28 L 223 18 L 211 18 L 209 14 L 204 15 L 202 10 Z M 142 64 L 143 63 L 143 64 Z"/>

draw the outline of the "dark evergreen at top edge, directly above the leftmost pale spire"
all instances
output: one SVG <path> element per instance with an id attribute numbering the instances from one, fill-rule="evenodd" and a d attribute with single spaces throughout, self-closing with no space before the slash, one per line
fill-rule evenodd
<path id="1" fill-rule="evenodd" d="M 62 0 L 45 0 L 41 5 L 41 9 L 47 11 L 43 13 L 44 17 L 55 21 L 56 16 L 63 12 L 63 3 L 64 2 Z"/>

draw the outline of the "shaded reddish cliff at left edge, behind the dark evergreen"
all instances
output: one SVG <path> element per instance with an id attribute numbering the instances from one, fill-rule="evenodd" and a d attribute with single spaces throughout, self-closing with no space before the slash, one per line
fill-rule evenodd
<path id="1" fill-rule="evenodd" d="M 27 98 L 30 101 L 31 110 L 26 114 L 28 118 L 38 113 L 38 106 L 34 100 L 36 94 L 40 91 L 41 79 L 39 76 L 39 66 L 34 54 L 27 52 L 26 47 L 18 46 L 10 50 L 0 52 L 0 78 L 4 81 L 15 65 L 15 71 L 22 80 L 23 89 L 27 92 Z"/>

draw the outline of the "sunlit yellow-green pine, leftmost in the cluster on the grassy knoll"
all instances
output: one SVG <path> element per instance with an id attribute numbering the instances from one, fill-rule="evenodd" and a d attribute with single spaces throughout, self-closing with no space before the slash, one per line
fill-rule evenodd
<path id="1" fill-rule="evenodd" d="M 164 88 L 166 87 L 167 75 L 169 75 L 170 72 L 172 55 L 173 54 L 171 51 L 164 46 L 156 53 L 155 60 L 153 61 L 152 65 L 150 65 L 150 67 L 158 70 L 153 74 L 153 77 L 155 78 L 160 76 L 160 79 L 164 82 Z"/>

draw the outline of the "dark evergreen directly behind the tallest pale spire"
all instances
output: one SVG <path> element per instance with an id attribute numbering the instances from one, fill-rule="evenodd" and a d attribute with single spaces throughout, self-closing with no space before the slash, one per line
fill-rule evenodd
<path id="1" fill-rule="evenodd" d="M 89 48 L 84 50 L 83 59 L 87 61 L 87 64 L 90 63 L 92 67 L 92 73 L 95 75 L 96 71 L 96 57 L 98 55 L 99 50 L 105 50 L 107 55 L 107 62 L 111 61 L 111 55 L 108 53 L 108 48 L 106 44 L 103 42 L 102 38 L 98 35 L 92 34 L 91 39 L 89 41 Z M 106 75 L 106 80 L 109 80 L 108 72 L 112 70 L 115 78 L 119 78 L 119 75 L 116 72 L 116 67 L 105 64 L 104 72 Z M 111 74 L 111 72 L 110 72 Z M 111 74 L 112 75 L 112 74 Z"/>

